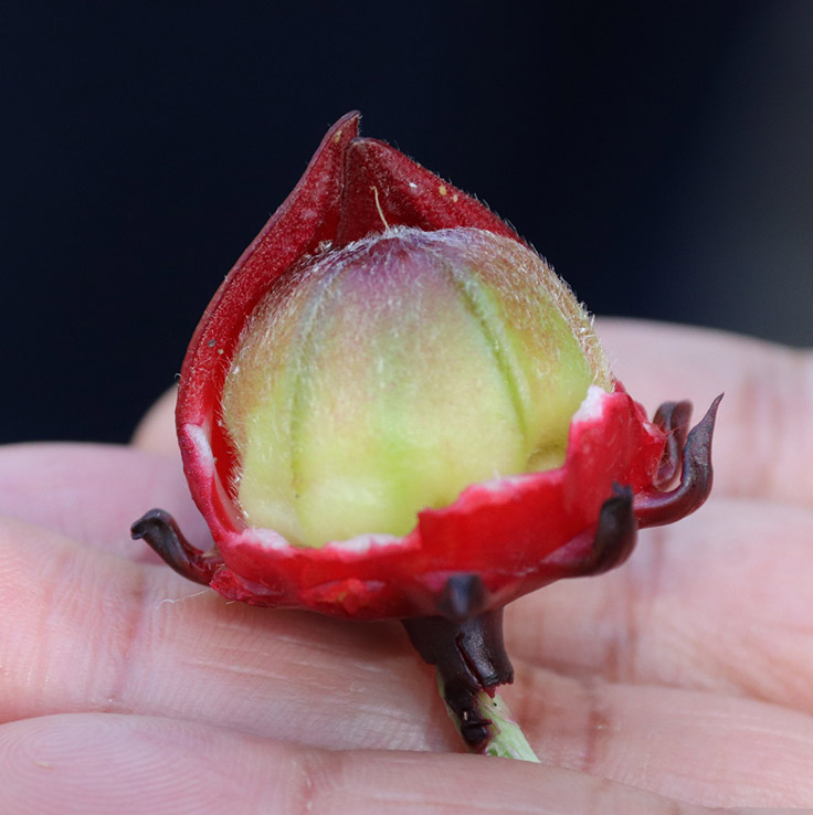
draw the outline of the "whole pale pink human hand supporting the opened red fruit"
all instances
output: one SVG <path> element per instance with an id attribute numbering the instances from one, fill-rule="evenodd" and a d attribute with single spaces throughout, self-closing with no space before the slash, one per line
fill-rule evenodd
<path id="1" fill-rule="evenodd" d="M 226 603 L 129 540 L 160 506 L 208 547 L 168 396 L 130 447 L 0 452 L 3 815 L 813 813 L 813 356 L 598 329 L 651 413 L 726 391 L 716 485 L 623 568 L 508 607 L 541 765 L 462 754 L 398 623 Z"/>

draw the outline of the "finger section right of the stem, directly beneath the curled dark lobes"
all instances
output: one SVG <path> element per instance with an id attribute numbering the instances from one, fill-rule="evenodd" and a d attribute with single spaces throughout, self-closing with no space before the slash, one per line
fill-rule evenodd
<path id="1" fill-rule="evenodd" d="M 813 715 L 813 511 L 712 498 L 627 563 L 508 606 L 511 655 L 583 678 L 712 688 Z"/>

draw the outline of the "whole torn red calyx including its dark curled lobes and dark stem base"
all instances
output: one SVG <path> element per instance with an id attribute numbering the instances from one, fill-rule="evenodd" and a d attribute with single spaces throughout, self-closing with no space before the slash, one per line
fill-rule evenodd
<path id="1" fill-rule="evenodd" d="M 220 394 L 246 320 L 275 282 L 309 255 L 388 226 L 467 226 L 522 243 L 474 198 L 389 145 L 359 137 L 358 124 L 359 114 L 350 113 L 328 131 L 219 288 L 183 361 L 178 437 L 214 548 L 202 553 L 190 546 L 162 510 L 137 521 L 133 536 L 229 599 L 411 621 L 413 643 L 445 671 L 447 700 L 466 720 L 474 692 L 510 680 L 498 622 L 507 602 L 620 564 L 638 527 L 671 522 L 703 504 L 717 402 L 687 437 L 688 403 L 664 405 L 651 423 L 620 385 L 613 393 L 591 389 L 571 422 L 561 467 L 472 485 L 450 506 L 419 512 L 402 538 L 305 549 L 247 527 L 230 491 L 237 462 L 219 423 Z M 471 744 L 483 742 L 486 726 L 473 722 Z"/>

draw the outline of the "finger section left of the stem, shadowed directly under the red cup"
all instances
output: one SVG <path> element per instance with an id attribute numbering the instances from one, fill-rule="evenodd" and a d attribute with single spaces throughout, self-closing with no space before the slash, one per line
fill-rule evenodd
<path id="1" fill-rule="evenodd" d="M 0 555 L 0 720 L 138 711 L 339 749 L 457 743 L 395 623 L 226 603 L 10 519 Z"/>

